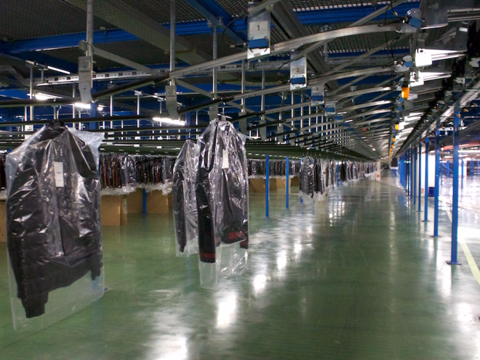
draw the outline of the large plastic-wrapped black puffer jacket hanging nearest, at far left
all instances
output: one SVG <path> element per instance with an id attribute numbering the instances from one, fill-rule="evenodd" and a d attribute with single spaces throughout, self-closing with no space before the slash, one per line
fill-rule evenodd
<path id="1" fill-rule="evenodd" d="M 51 124 L 7 156 L 8 253 L 26 317 L 45 312 L 49 291 L 100 275 L 102 138 Z"/>

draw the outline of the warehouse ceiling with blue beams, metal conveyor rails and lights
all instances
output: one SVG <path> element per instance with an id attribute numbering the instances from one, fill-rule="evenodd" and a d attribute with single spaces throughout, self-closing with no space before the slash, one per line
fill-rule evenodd
<path id="1" fill-rule="evenodd" d="M 73 104 L 82 101 L 77 74 L 87 0 L 1 1 L 0 148 L 60 119 L 106 132 L 108 151 L 176 152 L 185 139 L 197 139 L 211 110 L 251 136 L 252 156 L 315 152 L 388 162 L 435 129 L 448 143 L 455 106 L 464 143 L 478 143 L 475 0 L 173 3 L 171 47 L 172 0 L 93 1 L 95 105 L 86 109 Z M 409 20 L 411 10 L 421 25 L 416 15 Z M 248 16 L 257 11 L 269 13 L 272 53 L 247 59 Z M 307 84 L 291 91 L 293 51 L 307 58 Z M 169 82 L 176 84 L 173 108 Z M 335 101 L 335 114 L 312 105 L 311 88 L 319 85 L 325 101 Z"/>

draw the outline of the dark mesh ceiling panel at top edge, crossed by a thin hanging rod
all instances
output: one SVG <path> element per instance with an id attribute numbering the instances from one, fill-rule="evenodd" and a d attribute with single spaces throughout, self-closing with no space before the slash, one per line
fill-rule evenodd
<path id="1" fill-rule="evenodd" d="M 157 23 L 170 23 L 171 0 L 123 0 L 124 3 L 142 12 Z M 205 20 L 205 16 L 197 12 L 187 0 L 176 0 L 176 21 Z"/>

